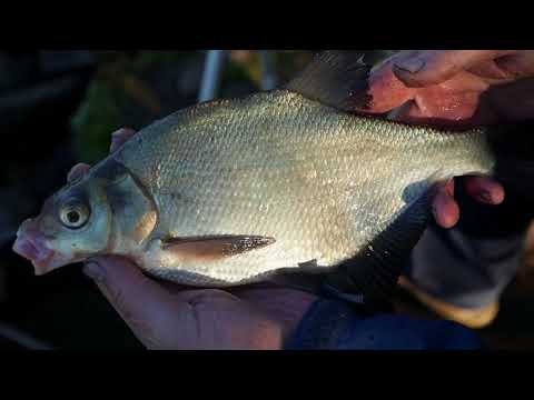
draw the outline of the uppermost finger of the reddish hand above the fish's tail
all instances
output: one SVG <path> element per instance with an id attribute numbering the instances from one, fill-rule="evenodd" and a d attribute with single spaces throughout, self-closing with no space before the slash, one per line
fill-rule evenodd
<path id="1" fill-rule="evenodd" d="M 405 86 L 424 88 L 442 83 L 477 63 L 514 52 L 514 50 L 424 50 L 406 52 L 395 59 L 393 71 Z"/>

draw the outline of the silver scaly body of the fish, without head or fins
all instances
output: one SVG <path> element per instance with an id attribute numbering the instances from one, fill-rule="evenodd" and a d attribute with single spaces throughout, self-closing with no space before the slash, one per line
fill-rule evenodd
<path id="1" fill-rule="evenodd" d="M 276 243 L 209 264 L 144 266 L 189 284 L 247 282 L 355 254 L 437 179 L 488 171 L 481 131 L 358 118 L 279 90 L 178 111 L 115 156 L 152 193 L 155 234 Z"/>

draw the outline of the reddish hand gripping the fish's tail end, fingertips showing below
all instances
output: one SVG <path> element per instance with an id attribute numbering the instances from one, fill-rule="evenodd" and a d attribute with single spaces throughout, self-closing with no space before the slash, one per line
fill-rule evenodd
<path id="1" fill-rule="evenodd" d="M 533 50 L 400 51 L 376 66 L 368 88 L 356 98 L 365 113 L 390 112 L 407 123 L 467 128 L 534 116 Z M 465 179 L 475 199 L 500 204 L 503 187 L 487 177 Z M 436 222 L 456 224 L 454 181 L 439 186 L 434 200 Z"/>

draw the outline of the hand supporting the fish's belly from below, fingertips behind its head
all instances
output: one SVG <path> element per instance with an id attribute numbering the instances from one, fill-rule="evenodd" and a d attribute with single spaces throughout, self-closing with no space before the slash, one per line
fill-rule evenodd
<path id="1" fill-rule="evenodd" d="M 134 134 L 129 129 L 115 132 L 110 151 Z M 75 166 L 68 180 L 89 168 Z M 121 257 L 91 259 L 83 271 L 148 349 L 280 349 L 317 299 L 267 284 L 227 291 L 185 288 L 151 279 Z"/>

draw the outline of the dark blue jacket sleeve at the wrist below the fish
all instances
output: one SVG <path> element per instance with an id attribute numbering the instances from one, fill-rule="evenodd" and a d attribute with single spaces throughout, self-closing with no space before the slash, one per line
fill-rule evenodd
<path id="1" fill-rule="evenodd" d="M 338 300 L 317 300 L 300 321 L 288 350 L 475 350 L 478 336 L 457 323 L 400 314 L 364 318 Z"/>

